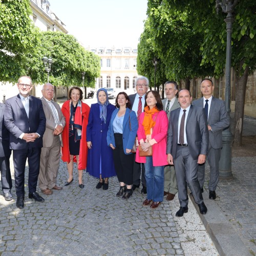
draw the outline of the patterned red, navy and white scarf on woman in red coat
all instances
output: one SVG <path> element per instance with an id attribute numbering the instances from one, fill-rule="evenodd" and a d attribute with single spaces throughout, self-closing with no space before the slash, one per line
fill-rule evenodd
<path id="1" fill-rule="evenodd" d="M 76 104 L 76 112 L 74 115 L 74 105 L 70 100 L 70 119 L 69 119 L 69 137 L 75 133 L 75 141 L 81 139 L 82 135 L 82 104 L 81 100 L 78 100 Z"/>

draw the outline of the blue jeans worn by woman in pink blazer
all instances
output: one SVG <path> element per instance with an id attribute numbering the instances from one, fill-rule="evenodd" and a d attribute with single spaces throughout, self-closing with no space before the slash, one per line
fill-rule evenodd
<path id="1" fill-rule="evenodd" d="M 153 200 L 153 202 L 162 202 L 164 189 L 164 166 L 153 166 L 152 157 L 146 157 L 144 166 L 147 199 Z"/>

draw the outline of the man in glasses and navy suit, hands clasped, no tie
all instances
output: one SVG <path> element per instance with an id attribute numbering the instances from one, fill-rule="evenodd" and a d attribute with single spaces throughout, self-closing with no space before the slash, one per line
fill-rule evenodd
<path id="1" fill-rule="evenodd" d="M 17 201 L 16 206 L 24 208 L 25 166 L 29 163 L 29 198 L 44 202 L 36 193 L 39 174 L 42 135 L 46 130 L 46 116 L 42 102 L 29 93 L 32 80 L 29 76 L 18 79 L 19 94 L 6 100 L 4 112 L 5 126 L 10 132 L 10 148 L 13 150 L 14 178 Z"/>

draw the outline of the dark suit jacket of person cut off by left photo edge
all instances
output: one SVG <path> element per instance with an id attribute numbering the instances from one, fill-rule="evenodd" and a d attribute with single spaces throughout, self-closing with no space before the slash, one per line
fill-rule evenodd
<path id="1" fill-rule="evenodd" d="M 5 104 L 0 103 L 0 157 L 10 157 L 10 135 L 4 123 Z"/>

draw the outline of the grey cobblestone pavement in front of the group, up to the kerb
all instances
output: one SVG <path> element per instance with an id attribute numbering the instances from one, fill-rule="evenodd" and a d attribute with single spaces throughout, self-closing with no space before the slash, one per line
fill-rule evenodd
<path id="1" fill-rule="evenodd" d="M 58 185 L 67 177 L 61 161 Z M 178 218 L 177 197 L 153 210 L 142 206 L 138 189 L 129 200 L 116 197 L 116 177 L 106 191 L 96 189 L 98 180 L 87 173 L 83 180 L 80 189 L 74 172 L 63 190 L 51 196 L 39 191 L 44 203 L 28 199 L 26 186 L 24 209 L 16 208 L 16 196 L 7 202 L 1 193 L 0 255 L 218 255 L 191 201 Z"/>

